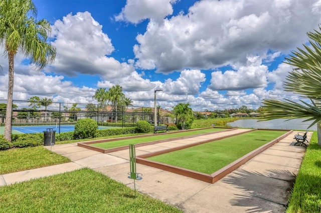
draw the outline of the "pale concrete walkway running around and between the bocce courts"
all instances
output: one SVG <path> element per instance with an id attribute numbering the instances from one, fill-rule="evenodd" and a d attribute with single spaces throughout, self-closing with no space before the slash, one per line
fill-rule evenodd
<path id="1" fill-rule="evenodd" d="M 237 129 L 183 140 L 136 147 L 136 155 L 180 146 L 196 141 L 247 131 Z M 300 167 L 305 148 L 293 146 L 288 135 L 218 182 L 211 184 L 169 171 L 137 163 L 143 174 L 136 189 L 151 197 L 175 205 L 184 212 L 284 212 L 287 196 Z M 308 133 L 308 140 L 312 132 Z M 50 146 L 45 146 L 50 149 Z M 133 188 L 129 179 L 129 151 L 103 154 L 77 143 L 59 144 L 52 151 L 72 160 L 69 163 L 0 175 L 0 185 L 90 167 Z"/>

